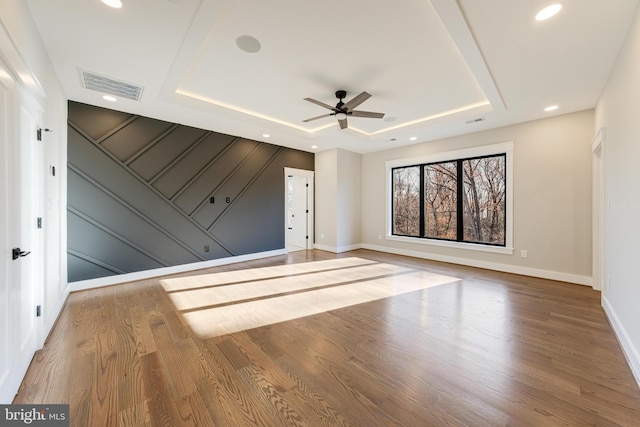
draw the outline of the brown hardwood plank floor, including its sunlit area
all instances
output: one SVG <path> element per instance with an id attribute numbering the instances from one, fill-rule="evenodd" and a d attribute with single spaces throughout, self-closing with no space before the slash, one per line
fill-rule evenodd
<path id="1" fill-rule="evenodd" d="M 599 292 L 366 250 L 73 293 L 14 403 L 73 426 L 640 425 Z"/>

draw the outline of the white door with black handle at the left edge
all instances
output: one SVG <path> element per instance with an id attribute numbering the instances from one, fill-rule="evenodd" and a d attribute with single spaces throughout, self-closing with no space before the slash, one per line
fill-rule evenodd
<path id="1" fill-rule="evenodd" d="M 0 404 L 11 403 L 35 353 L 36 317 L 44 254 L 13 259 L 13 249 L 38 249 L 36 218 L 42 199 L 40 110 L 0 62 Z M 40 177 L 40 178 L 39 178 Z"/>

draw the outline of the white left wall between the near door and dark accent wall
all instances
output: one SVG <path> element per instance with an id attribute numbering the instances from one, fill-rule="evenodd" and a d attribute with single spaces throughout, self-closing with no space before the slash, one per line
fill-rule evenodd
<path id="1" fill-rule="evenodd" d="M 53 326 L 67 296 L 66 261 L 66 144 L 67 144 L 67 100 L 44 49 L 40 34 L 31 19 L 27 2 L 5 0 L 0 2 L 0 25 L 11 38 L 19 58 L 8 49 L 0 52 L 4 60 L 14 69 L 21 68 L 39 82 L 44 93 L 38 93 L 27 82 L 25 86 L 43 108 L 42 126 L 52 132 L 44 133 L 44 163 L 47 166 L 44 188 L 46 211 L 43 223 L 45 231 L 45 283 L 42 286 L 43 328 L 41 341 Z M 52 176 L 50 167 L 55 166 Z M 16 166 L 17 167 L 17 166 Z M 18 173 L 10 171 L 10 173 Z M 6 218 L 2 218 L 6 221 Z M 11 224 L 9 224 L 11 226 Z"/>

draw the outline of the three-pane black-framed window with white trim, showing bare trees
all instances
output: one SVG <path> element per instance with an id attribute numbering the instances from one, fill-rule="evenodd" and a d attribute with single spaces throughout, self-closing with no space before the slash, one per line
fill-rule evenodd
<path id="1" fill-rule="evenodd" d="M 387 162 L 390 237 L 511 248 L 512 150 L 496 144 Z"/>

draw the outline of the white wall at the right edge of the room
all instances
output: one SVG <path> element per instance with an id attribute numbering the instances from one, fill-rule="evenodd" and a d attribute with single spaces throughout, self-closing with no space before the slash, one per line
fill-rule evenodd
<path id="1" fill-rule="evenodd" d="M 640 11 L 596 106 L 604 128 L 602 303 L 640 383 Z M 607 280 L 608 277 L 608 280 Z"/>

